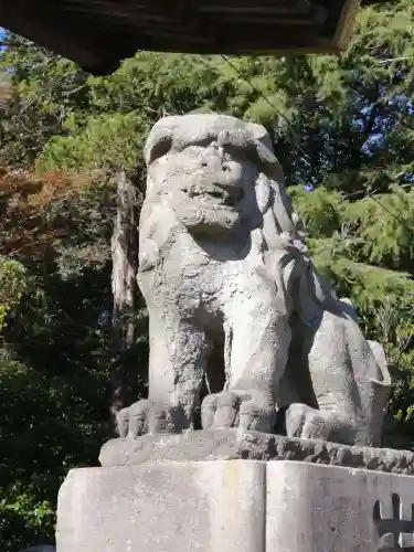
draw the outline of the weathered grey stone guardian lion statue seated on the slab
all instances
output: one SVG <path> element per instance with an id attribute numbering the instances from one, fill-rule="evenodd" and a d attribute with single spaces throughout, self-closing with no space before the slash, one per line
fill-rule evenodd
<path id="1" fill-rule="evenodd" d="M 234 427 L 379 444 L 390 375 L 307 255 L 266 130 L 224 115 L 159 120 L 147 141 L 139 286 L 149 399 L 121 436 Z"/>

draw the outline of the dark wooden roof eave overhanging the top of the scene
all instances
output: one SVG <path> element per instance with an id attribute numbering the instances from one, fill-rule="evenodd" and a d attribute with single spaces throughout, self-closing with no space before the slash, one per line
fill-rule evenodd
<path id="1" fill-rule="evenodd" d="M 370 0 L 365 0 L 370 1 Z M 0 0 L 1 2 L 1 0 Z M 333 53 L 358 0 L 10 0 L 0 25 L 81 64 L 115 71 L 136 51 Z M 323 18 L 316 18 L 317 11 Z M 322 10 L 320 10 L 322 8 Z M 325 17 L 326 15 L 326 17 Z"/>

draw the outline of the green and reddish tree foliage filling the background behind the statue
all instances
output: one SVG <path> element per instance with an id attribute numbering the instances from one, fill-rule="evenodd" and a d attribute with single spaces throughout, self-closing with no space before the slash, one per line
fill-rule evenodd
<path id="1" fill-rule="evenodd" d="M 385 343 L 394 379 L 385 444 L 414 446 L 413 29 L 411 0 L 378 2 L 361 10 L 340 57 L 140 52 L 105 78 L 7 38 L 11 46 L 0 61 L 11 85 L 0 104 L 0 158 L 13 168 L 0 182 L 7 550 L 51 539 L 62 478 L 71 466 L 96 463 L 116 363 L 135 363 L 134 393 L 145 392 L 145 314 L 136 314 L 139 338 L 128 358 L 114 353 L 98 320 L 112 304 L 113 177 L 134 172 L 142 194 L 145 138 L 167 114 L 217 110 L 269 130 L 318 267 L 352 299 L 367 335 Z"/>

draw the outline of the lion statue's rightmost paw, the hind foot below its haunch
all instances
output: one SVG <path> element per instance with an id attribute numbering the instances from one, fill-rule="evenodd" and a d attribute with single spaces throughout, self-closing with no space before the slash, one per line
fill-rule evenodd
<path id="1" fill-rule="evenodd" d="M 291 404 L 286 411 L 288 437 L 322 439 L 342 445 L 352 445 L 355 439 L 354 425 L 347 414 L 315 410 L 306 404 Z"/>

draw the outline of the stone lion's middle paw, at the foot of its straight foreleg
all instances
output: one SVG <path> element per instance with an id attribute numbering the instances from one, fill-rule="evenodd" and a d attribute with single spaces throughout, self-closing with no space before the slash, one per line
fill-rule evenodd
<path id="1" fill-rule="evenodd" d="M 275 408 L 255 393 L 223 391 L 208 395 L 201 406 L 203 429 L 240 427 L 273 433 L 275 422 Z"/>

